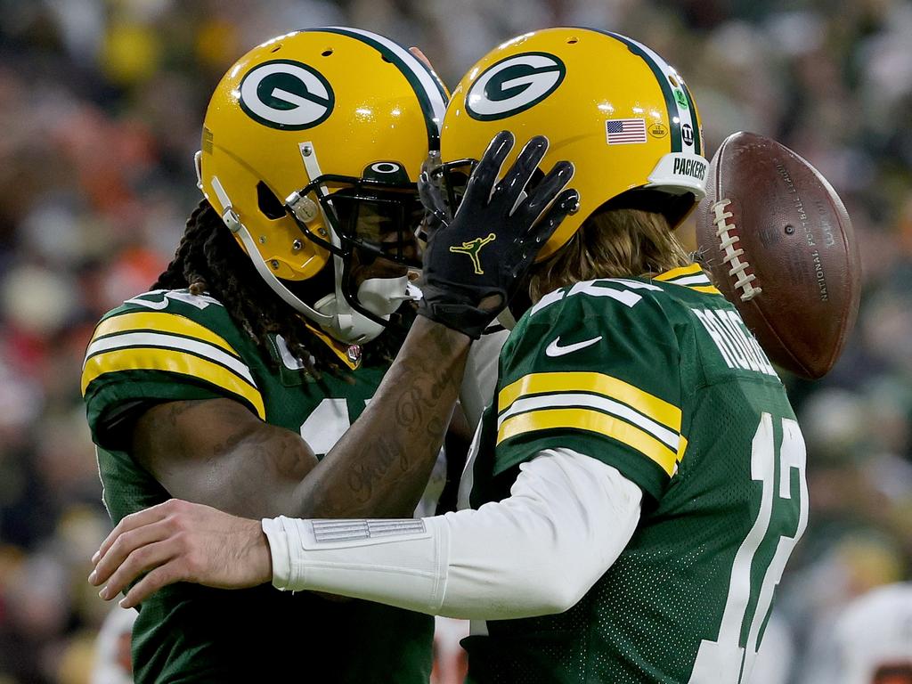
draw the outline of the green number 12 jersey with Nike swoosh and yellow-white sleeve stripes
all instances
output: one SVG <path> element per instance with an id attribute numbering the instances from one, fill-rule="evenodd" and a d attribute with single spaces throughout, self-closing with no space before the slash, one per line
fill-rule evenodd
<path id="1" fill-rule="evenodd" d="M 473 508 L 556 447 L 617 468 L 644 498 L 626 549 L 575 606 L 473 629 L 469 681 L 748 681 L 807 523 L 804 442 L 770 361 L 697 264 L 546 295 L 503 347 L 478 443 Z"/>

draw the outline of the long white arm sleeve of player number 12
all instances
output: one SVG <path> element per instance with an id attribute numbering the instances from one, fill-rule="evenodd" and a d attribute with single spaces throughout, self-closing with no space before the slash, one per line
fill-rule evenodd
<path id="1" fill-rule="evenodd" d="M 575 605 L 633 535 L 642 492 L 565 449 L 520 466 L 510 496 L 420 520 L 264 519 L 273 585 L 449 617 L 505 619 Z"/>

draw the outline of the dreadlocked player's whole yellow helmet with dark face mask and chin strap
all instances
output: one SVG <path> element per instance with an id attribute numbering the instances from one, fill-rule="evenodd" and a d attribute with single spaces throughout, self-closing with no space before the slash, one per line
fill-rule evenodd
<path id="1" fill-rule="evenodd" d="M 341 27 L 254 47 L 215 88 L 196 156 L 200 189 L 275 293 L 340 341 L 376 337 L 409 298 L 406 275 L 355 291 L 350 257 L 357 248 L 417 258 L 416 181 L 439 150 L 446 99 L 407 49 Z M 381 236 L 390 230 L 395 240 Z M 330 259 L 335 286 L 314 292 Z"/>

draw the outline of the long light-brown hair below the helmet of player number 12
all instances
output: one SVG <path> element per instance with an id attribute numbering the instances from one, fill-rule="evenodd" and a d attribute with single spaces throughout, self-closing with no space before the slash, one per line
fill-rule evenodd
<path id="1" fill-rule="evenodd" d="M 534 266 L 529 295 L 535 302 L 580 281 L 658 274 L 691 261 L 661 213 L 602 208 L 563 247 Z"/>

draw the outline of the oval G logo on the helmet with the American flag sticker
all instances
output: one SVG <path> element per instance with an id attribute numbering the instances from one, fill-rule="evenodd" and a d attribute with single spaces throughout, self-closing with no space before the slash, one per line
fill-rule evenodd
<path id="1" fill-rule="evenodd" d="M 529 109 L 561 85 L 566 67 L 546 52 L 524 52 L 486 68 L 469 88 L 465 109 L 472 119 L 504 119 Z"/>

